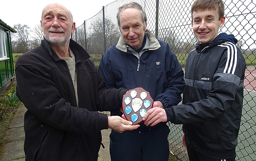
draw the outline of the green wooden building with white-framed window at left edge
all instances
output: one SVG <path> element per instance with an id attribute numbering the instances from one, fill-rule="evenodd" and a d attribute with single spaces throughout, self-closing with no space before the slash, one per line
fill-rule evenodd
<path id="1" fill-rule="evenodd" d="M 14 81 L 11 32 L 16 32 L 0 19 L 0 93 Z"/>

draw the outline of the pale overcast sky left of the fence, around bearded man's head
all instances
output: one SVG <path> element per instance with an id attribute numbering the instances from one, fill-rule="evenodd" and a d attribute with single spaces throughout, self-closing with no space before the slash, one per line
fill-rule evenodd
<path id="1" fill-rule="evenodd" d="M 10 3 L 1 3 L 0 19 L 10 27 L 14 27 L 14 24 L 26 24 L 33 29 L 40 24 L 45 5 L 57 2 L 71 11 L 76 26 L 80 26 L 84 20 L 93 17 L 103 6 L 113 1 L 115 0 L 12 0 Z"/>

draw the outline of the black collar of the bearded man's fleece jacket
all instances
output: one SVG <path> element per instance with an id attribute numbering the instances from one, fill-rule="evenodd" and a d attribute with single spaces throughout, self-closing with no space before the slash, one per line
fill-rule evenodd
<path id="1" fill-rule="evenodd" d="M 41 41 L 41 46 L 43 48 L 45 48 L 50 56 L 52 56 L 52 58 L 54 60 L 62 60 L 59 58 L 59 56 L 50 48 L 49 46 L 49 42 L 44 39 Z M 72 52 L 75 55 L 75 62 L 84 62 L 85 60 L 90 58 L 90 55 L 88 54 L 88 52 L 86 50 L 84 50 L 84 48 L 82 46 L 80 46 L 78 43 L 76 43 L 74 40 L 70 39 L 69 41 L 69 47 L 72 50 Z"/>

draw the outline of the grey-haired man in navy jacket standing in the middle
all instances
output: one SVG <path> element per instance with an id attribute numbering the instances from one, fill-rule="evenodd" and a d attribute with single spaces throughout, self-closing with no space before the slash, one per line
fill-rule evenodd
<path id="1" fill-rule="evenodd" d="M 122 35 L 102 56 L 98 68 L 105 86 L 142 87 L 155 100 L 153 107 L 177 105 L 185 85 L 182 68 L 169 45 L 146 30 L 147 17 L 142 7 L 135 2 L 122 5 L 117 21 Z M 111 111 L 111 115 L 122 114 L 120 110 Z M 121 135 L 111 131 L 112 161 L 168 161 L 170 130 L 166 123 L 154 127 L 140 125 L 139 129 Z"/>

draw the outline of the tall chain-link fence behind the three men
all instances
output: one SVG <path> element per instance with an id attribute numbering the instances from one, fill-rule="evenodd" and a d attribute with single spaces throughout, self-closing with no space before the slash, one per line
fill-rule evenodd
<path id="1" fill-rule="evenodd" d="M 147 29 L 156 38 L 169 43 L 182 68 L 188 53 L 195 47 L 196 38 L 191 28 L 191 5 L 193 0 L 134 0 L 147 13 Z M 223 0 L 225 25 L 220 32 L 233 34 L 237 46 L 246 60 L 244 102 L 241 126 L 238 134 L 236 160 L 256 160 L 256 1 Z M 72 39 L 83 46 L 98 66 L 102 54 L 116 43 L 121 35 L 116 14 L 117 9 L 128 0 L 116 0 L 103 7 L 99 13 L 76 28 Z M 169 123 L 170 152 L 177 160 L 188 160 L 187 151 L 181 144 L 182 125 Z"/>

